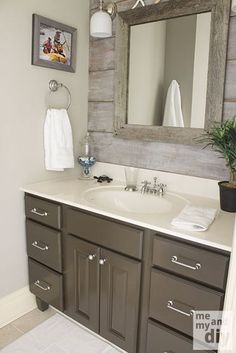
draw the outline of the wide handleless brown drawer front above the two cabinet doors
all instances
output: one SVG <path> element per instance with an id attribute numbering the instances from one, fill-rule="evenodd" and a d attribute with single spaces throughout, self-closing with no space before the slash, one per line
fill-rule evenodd
<path id="1" fill-rule="evenodd" d="M 139 229 L 69 207 L 66 210 L 66 230 L 69 234 L 77 235 L 106 248 L 137 259 L 142 258 L 143 231 Z"/>

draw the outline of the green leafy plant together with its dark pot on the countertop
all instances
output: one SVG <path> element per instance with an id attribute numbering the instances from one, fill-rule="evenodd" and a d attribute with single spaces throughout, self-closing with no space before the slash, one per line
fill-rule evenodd
<path id="1" fill-rule="evenodd" d="M 229 181 L 219 182 L 221 209 L 236 212 L 236 116 L 215 125 L 199 139 L 205 147 L 210 146 L 225 159 L 229 171 Z"/>

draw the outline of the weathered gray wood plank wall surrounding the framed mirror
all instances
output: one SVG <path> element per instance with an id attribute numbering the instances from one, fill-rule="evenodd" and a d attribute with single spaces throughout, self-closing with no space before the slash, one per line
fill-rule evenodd
<path id="1" fill-rule="evenodd" d="M 118 11 L 130 9 L 134 2 L 116 1 Z M 145 2 L 153 4 L 154 0 Z M 97 5 L 98 0 L 90 0 L 91 14 Z M 224 161 L 211 150 L 197 145 L 143 142 L 113 136 L 115 20 L 113 22 L 113 37 L 90 38 L 88 129 L 93 141 L 93 155 L 101 162 L 216 180 L 227 178 Z M 236 16 L 233 13 L 230 20 L 224 98 L 223 116 L 228 119 L 236 115 Z"/>

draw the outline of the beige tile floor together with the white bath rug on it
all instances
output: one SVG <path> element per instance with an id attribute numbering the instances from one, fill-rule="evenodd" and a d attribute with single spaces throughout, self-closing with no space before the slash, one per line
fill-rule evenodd
<path id="1" fill-rule="evenodd" d="M 53 309 L 43 313 L 35 309 L 0 329 L 0 352 L 120 353 L 121 350 Z"/>

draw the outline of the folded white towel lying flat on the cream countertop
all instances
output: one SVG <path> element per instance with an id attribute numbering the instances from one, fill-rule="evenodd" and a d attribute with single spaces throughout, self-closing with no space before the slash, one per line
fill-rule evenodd
<path id="1" fill-rule="evenodd" d="M 204 232 L 214 221 L 216 213 L 217 210 L 214 208 L 187 205 L 180 214 L 172 220 L 171 224 L 183 230 Z"/>

